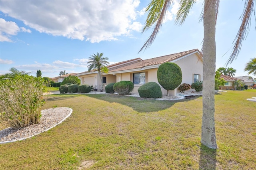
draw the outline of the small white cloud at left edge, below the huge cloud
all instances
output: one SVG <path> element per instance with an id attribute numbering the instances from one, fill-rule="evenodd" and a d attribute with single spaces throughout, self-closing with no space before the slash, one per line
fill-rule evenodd
<path id="1" fill-rule="evenodd" d="M 10 37 L 17 35 L 20 31 L 31 33 L 29 29 L 24 27 L 19 28 L 15 22 L 0 18 L 0 42 L 12 42 Z"/>

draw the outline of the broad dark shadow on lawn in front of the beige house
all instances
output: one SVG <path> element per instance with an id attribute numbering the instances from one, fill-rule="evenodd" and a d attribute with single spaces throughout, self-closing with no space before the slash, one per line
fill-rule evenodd
<path id="1" fill-rule="evenodd" d="M 88 97 L 93 97 L 99 100 L 107 101 L 110 103 L 119 103 L 126 105 L 134 109 L 134 111 L 144 113 L 144 112 L 156 112 L 172 107 L 178 102 L 188 102 L 190 100 L 197 99 L 198 97 L 193 97 L 191 99 L 181 99 L 181 100 L 155 100 L 155 99 L 145 99 L 142 97 L 131 97 L 122 96 L 116 94 L 86 94 Z"/>

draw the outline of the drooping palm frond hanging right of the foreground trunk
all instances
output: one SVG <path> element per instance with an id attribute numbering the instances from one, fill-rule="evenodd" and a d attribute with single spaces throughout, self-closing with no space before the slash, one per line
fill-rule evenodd
<path id="1" fill-rule="evenodd" d="M 246 0 L 244 3 L 244 11 L 242 14 L 242 24 L 238 30 L 238 33 L 236 35 L 236 38 L 234 40 L 234 47 L 232 54 L 230 55 L 228 61 L 226 62 L 226 65 L 232 63 L 234 59 L 237 58 L 240 49 L 242 47 L 243 40 L 246 39 L 248 32 L 250 30 L 250 17 L 253 14 L 255 15 L 255 0 Z M 240 18 L 241 18 L 240 17 Z"/>

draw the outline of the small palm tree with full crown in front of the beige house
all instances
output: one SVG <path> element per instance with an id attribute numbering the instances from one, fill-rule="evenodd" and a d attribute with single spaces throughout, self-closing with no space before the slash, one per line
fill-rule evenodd
<path id="1" fill-rule="evenodd" d="M 103 90 L 103 82 L 102 82 L 102 77 L 101 77 L 101 72 L 107 72 L 107 65 L 109 64 L 108 57 L 102 57 L 103 53 L 97 53 L 97 55 L 93 54 L 91 55 L 92 57 L 89 57 L 89 61 L 87 64 L 88 72 L 91 70 L 96 69 L 98 71 L 98 74 L 100 76 L 100 81 L 101 81 L 101 90 Z"/>

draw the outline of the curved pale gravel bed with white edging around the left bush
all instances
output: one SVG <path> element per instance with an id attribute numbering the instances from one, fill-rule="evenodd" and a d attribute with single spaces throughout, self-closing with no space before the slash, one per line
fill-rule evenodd
<path id="1" fill-rule="evenodd" d="M 30 125 L 20 129 L 9 127 L 0 130 L 0 144 L 15 142 L 17 140 L 24 140 L 26 138 L 31 138 L 32 136 L 35 136 L 41 132 L 47 131 L 68 118 L 72 113 L 72 109 L 68 107 L 56 107 L 45 109 L 41 112 L 42 117 L 39 124 Z"/>

